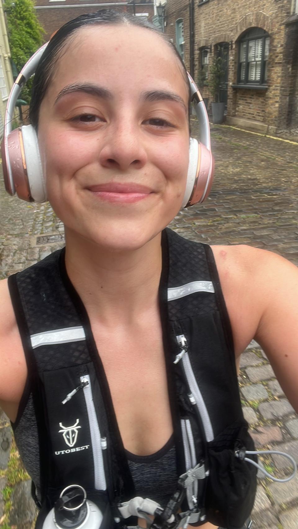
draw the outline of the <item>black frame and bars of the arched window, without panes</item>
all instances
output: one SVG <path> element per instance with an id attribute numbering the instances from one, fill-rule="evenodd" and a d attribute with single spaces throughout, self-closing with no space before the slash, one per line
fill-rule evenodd
<path id="1" fill-rule="evenodd" d="M 251 28 L 252 29 L 255 29 L 255 28 Z M 267 85 L 267 79 L 265 79 L 265 72 L 266 72 L 266 68 L 268 68 L 268 66 L 266 66 L 266 63 L 268 62 L 268 58 L 269 58 L 269 53 L 270 53 L 270 35 L 269 33 L 267 33 L 265 30 L 263 30 L 262 28 L 256 28 L 256 29 L 259 29 L 260 30 L 260 33 L 259 34 L 255 34 L 255 35 L 251 35 L 249 36 L 249 32 L 250 30 L 248 30 L 246 32 L 247 34 L 247 37 L 243 37 L 241 39 L 239 39 L 239 48 L 238 48 L 238 69 L 237 69 L 237 83 L 238 85 L 243 85 L 243 86 L 266 86 Z M 252 42 L 252 41 L 257 41 L 257 40 L 262 40 L 262 51 L 261 51 L 261 60 L 260 61 L 249 61 L 248 60 L 248 51 L 249 51 L 249 43 Z M 265 59 L 265 47 L 266 47 L 266 40 L 269 39 L 269 53 L 268 53 L 268 58 Z M 246 52 L 245 52 L 245 60 L 244 61 L 240 61 L 241 59 L 241 45 L 246 43 Z M 249 80 L 249 63 L 250 62 L 260 62 L 261 63 L 261 66 L 260 66 L 260 79 L 259 80 Z M 244 80 L 241 79 L 241 65 L 242 64 L 245 64 L 245 78 Z"/>

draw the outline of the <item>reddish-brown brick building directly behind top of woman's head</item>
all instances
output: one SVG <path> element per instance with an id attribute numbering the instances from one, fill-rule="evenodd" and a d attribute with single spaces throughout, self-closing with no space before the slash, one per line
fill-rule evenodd
<path id="1" fill-rule="evenodd" d="M 44 42 L 63 24 L 84 13 L 94 13 L 99 9 L 117 9 L 136 16 L 152 20 L 154 14 L 153 0 L 36 0 L 35 9 L 46 34 Z"/>

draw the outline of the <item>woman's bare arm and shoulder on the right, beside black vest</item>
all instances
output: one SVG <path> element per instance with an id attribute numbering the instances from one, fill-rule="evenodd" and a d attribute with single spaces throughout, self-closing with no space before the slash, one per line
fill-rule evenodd
<path id="1" fill-rule="evenodd" d="M 249 246 L 212 248 L 239 359 L 261 345 L 298 412 L 298 269 L 273 252 Z"/>

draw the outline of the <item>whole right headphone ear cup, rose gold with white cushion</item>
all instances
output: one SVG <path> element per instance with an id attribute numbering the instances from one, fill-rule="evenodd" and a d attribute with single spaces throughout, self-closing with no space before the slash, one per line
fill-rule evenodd
<path id="1" fill-rule="evenodd" d="M 182 207 L 202 203 L 210 193 L 214 160 L 209 149 L 195 138 L 189 141 L 189 162 Z"/>

